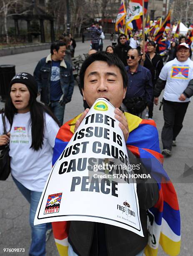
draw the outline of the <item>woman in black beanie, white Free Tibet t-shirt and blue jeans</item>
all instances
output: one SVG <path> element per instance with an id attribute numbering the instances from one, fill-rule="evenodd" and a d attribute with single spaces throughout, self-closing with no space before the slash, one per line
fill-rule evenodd
<path id="1" fill-rule="evenodd" d="M 38 87 L 28 73 L 15 75 L 5 103 L 7 134 L 0 136 L 0 146 L 10 142 L 10 167 L 13 180 L 30 203 L 32 241 L 29 255 L 45 255 L 46 230 L 50 224 L 33 225 L 45 182 L 52 168 L 53 147 L 58 120 L 40 102 Z M 0 116 L 0 134 L 3 121 Z"/>

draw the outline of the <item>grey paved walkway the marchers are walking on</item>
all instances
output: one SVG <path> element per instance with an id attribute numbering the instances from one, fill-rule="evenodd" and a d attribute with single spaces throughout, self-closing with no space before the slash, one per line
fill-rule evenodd
<path id="1" fill-rule="evenodd" d="M 105 45 L 109 45 L 110 41 L 105 41 Z M 78 43 L 77 54 L 88 52 L 89 43 Z M 0 58 L 0 63 L 16 64 L 16 71 L 25 71 L 33 73 L 33 69 L 37 61 L 48 54 L 48 51 L 37 51 L 32 53 L 5 56 Z M 11 62 L 11 60 L 13 60 Z M 0 103 L 0 107 L 3 103 Z M 67 121 L 79 114 L 83 110 L 83 100 L 78 87 L 75 86 L 73 98 L 67 104 L 65 109 L 65 120 Z M 164 167 L 175 180 L 183 174 L 185 164 L 193 166 L 193 104 L 190 103 L 188 111 L 184 119 L 184 127 L 177 138 L 177 147 L 173 148 L 173 156 L 165 159 Z M 157 123 L 160 135 L 163 126 L 163 112 L 154 109 L 155 122 Z M 160 143 L 160 147 L 162 145 Z M 18 153 L 19 154 L 19 153 Z M 193 247 L 193 224 L 192 224 L 192 205 L 193 205 L 193 186 L 192 183 L 175 183 L 175 189 L 178 194 L 178 200 L 181 212 L 181 256 L 191 256 Z M 5 182 L 0 182 L 0 256 L 4 255 L 28 255 L 30 246 L 30 227 L 28 224 L 29 205 L 20 194 L 11 177 Z M 25 248 L 25 253 L 4 253 L 3 248 Z M 47 255 L 57 256 L 57 250 L 53 237 L 47 242 Z M 160 249 L 158 256 L 165 253 Z"/>

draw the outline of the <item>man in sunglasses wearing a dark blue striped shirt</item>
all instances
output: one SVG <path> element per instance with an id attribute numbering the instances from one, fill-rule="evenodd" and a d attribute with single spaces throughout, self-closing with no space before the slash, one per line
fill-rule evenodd
<path id="1" fill-rule="evenodd" d="M 150 71 L 139 64 L 140 59 L 140 49 L 130 49 L 128 51 L 128 66 L 125 67 L 128 74 L 128 86 L 121 107 L 124 111 L 144 119 L 147 102 L 151 102 L 153 96 L 153 84 Z"/>

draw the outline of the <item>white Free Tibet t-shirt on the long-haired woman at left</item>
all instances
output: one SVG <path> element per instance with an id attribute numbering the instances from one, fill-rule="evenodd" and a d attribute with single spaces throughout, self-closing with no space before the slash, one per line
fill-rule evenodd
<path id="1" fill-rule="evenodd" d="M 6 131 L 10 123 L 6 120 Z M 42 192 L 52 169 L 53 147 L 59 126 L 45 113 L 43 146 L 38 151 L 30 148 L 32 143 L 30 112 L 16 114 L 10 131 L 11 174 L 24 187 L 31 191 Z M 3 121 L 0 115 L 0 135 L 3 134 Z"/>

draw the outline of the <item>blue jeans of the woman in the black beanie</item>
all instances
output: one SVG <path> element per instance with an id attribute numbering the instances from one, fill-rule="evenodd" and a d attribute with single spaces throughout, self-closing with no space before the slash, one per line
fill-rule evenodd
<path id="1" fill-rule="evenodd" d="M 33 225 L 35 212 L 38 207 L 38 203 L 40 201 L 40 197 L 42 192 L 35 192 L 24 187 L 18 180 L 16 180 L 13 176 L 13 181 L 16 186 L 25 197 L 26 200 L 30 203 L 30 226 L 32 232 L 32 241 L 30 246 L 30 256 L 45 256 L 45 233 L 46 230 L 51 228 L 51 223 L 44 223 L 40 225 Z"/>

